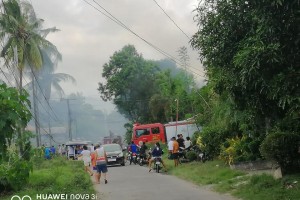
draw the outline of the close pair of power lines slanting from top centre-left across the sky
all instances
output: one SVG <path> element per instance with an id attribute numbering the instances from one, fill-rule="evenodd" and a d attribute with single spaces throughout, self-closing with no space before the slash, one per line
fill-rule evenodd
<path id="1" fill-rule="evenodd" d="M 149 46 L 151 46 L 152 48 L 154 48 L 156 51 L 158 51 L 159 53 L 161 53 L 162 55 L 168 57 L 169 59 L 171 59 L 172 61 L 174 61 L 176 64 L 180 64 L 180 61 L 175 58 L 174 56 L 168 54 L 167 52 L 163 51 L 162 49 L 158 48 L 157 46 L 155 46 L 154 44 L 150 43 L 149 41 L 147 41 L 146 39 L 144 39 L 143 37 L 141 37 L 140 35 L 138 35 L 136 32 L 134 32 L 133 30 L 131 30 L 130 28 L 128 28 L 123 22 L 121 22 L 119 19 L 117 19 L 114 15 L 112 15 L 108 10 L 106 10 L 103 6 L 101 6 L 98 2 L 96 2 L 95 0 L 93 0 L 93 2 L 95 4 L 97 4 L 102 10 L 104 10 L 106 13 L 104 13 L 103 11 L 99 10 L 96 6 L 94 6 L 93 4 L 91 4 L 90 2 L 88 2 L 87 0 L 83 0 L 84 2 L 86 2 L 88 5 L 90 5 L 91 7 L 93 7 L 95 10 L 97 10 L 98 12 L 100 12 L 101 14 L 103 14 L 104 16 L 106 16 L 107 18 L 109 18 L 110 20 L 112 20 L 113 22 L 115 22 L 116 24 L 118 24 L 119 26 L 123 27 L 124 29 L 126 29 L 127 31 L 131 32 L 132 34 L 134 34 L 136 37 L 138 37 L 139 39 L 141 39 L 142 41 L 144 41 L 146 44 L 148 44 Z M 191 67 L 191 66 L 190 66 Z M 192 67 L 193 68 L 193 67 Z M 197 68 L 195 68 L 196 70 L 199 70 Z M 189 69 L 190 70 L 190 69 Z M 198 76 L 201 76 L 201 77 L 204 77 L 205 78 L 205 75 L 201 75 L 201 74 L 198 74 L 194 71 L 191 71 L 190 72 L 198 75 Z M 202 72 L 204 73 L 204 72 Z"/>

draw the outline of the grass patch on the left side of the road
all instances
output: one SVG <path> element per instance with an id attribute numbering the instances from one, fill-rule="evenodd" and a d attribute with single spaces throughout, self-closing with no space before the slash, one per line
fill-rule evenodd
<path id="1" fill-rule="evenodd" d="M 1 197 L 9 200 L 13 195 L 29 195 L 36 199 L 37 194 L 96 194 L 90 176 L 83 170 L 83 163 L 69 161 L 61 157 L 51 160 L 35 159 L 29 182 L 22 190 Z"/>

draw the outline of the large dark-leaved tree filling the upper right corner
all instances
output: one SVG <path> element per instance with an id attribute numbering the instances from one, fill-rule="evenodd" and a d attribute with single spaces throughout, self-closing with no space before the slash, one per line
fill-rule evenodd
<path id="1" fill-rule="evenodd" d="M 260 133 L 286 118 L 299 124 L 299 9 L 297 0 L 207 0 L 196 9 L 191 43 L 209 82 L 252 113 Z"/>

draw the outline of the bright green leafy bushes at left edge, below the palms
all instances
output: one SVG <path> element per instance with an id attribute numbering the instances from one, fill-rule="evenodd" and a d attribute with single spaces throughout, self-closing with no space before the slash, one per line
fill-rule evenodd
<path id="1" fill-rule="evenodd" d="M 23 132 L 17 137 L 16 134 L 16 130 L 25 126 L 31 118 L 27 97 L 26 91 L 19 95 L 17 89 L 0 85 L 0 189 L 3 190 L 20 189 L 28 181 L 32 170 L 29 161 L 29 139 L 32 135 Z M 25 147 L 21 158 L 13 142 Z"/>

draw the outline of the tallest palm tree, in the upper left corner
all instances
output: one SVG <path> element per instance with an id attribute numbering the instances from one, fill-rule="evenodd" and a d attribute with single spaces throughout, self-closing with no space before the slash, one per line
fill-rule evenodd
<path id="1" fill-rule="evenodd" d="M 41 49 L 56 47 L 47 41 L 41 34 L 40 27 L 43 22 L 37 19 L 30 3 L 17 0 L 2 0 L 2 14 L 0 15 L 0 39 L 4 42 L 1 57 L 5 64 L 15 61 L 15 67 L 19 71 L 19 91 L 23 88 L 23 71 L 25 66 L 31 69 L 42 67 Z M 15 58 L 15 59 L 14 59 Z M 22 139 L 22 129 L 18 131 L 18 138 Z M 23 146 L 20 143 L 20 153 Z"/>

